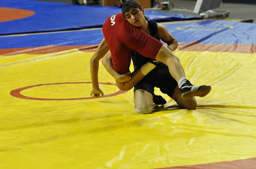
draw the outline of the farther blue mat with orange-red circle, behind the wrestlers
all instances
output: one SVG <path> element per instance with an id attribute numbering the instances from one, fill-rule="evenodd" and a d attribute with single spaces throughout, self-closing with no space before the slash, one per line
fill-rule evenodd
<path id="1" fill-rule="evenodd" d="M 14 16 L 12 20 L 0 20 L 0 35 L 101 28 L 109 16 L 121 12 L 118 7 L 76 6 L 33 0 L 1 0 L 0 10 Z M 27 13 L 31 15 L 26 15 Z M 19 17 L 20 15 L 24 17 Z M 156 11 L 145 11 L 145 15 L 156 22 L 201 19 Z"/>

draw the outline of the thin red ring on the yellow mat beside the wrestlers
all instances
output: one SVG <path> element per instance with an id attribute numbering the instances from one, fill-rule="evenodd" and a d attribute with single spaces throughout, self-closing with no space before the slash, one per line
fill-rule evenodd
<path id="1" fill-rule="evenodd" d="M 21 87 L 21 88 L 12 90 L 12 91 L 10 92 L 10 95 L 11 95 L 11 96 L 14 96 L 14 97 L 17 97 L 17 98 L 20 98 L 20 99 L 46 100 L 46 101 L 63 101 L 63 100 L 98 99 L 98 98 L 116 96 L 116 95 L 119 95 L 119 94 L 122 94 L 122 93 L 126 93 L 126 92 L 127 92 L 127 91 L 121 91 L 121 90 L 119 90 L 119 91 L 117 91 L 116 93 L 112 93 L 112 94 L 108 94 L 108 95 L 103 95 L 103 96 L 100 96 L 100 97 L 98 97 L 98 98 L 96 98 L 96 97 L 83 97 L 83 98 L 71 98 L 71 99 L 44 99 L 44 98 L 36 98 L 36 97 L 24 96 L 24 95 L 22 95 L 22 94 L 20 93 L 21 91 L 26 90 L 26 89 L 29 89 L 29 88 L 32 88 L 32 87 L 39 87 L 39 86 L 46 86 L 46 85 L 81 84 L 81 83 L 88 84 L 88 83 L 92 83 L 92 82 L 65 82 L 65 83 L 48 83 L 48 84 L 32 85 L 32 86 L 26 86 L 26 87 Z M 102 84 L 102 85 L 115 85 L 115 86 L 116 86 L 116 84 L 114 84 L 114 83 L 102 83 L 102 82 L 99 82 L 99 84 Z"/>

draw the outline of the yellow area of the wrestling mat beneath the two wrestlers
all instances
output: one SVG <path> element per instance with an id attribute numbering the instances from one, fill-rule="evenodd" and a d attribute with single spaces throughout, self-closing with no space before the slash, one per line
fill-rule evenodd
<path id="1" fill-rule="evenodd" d="M 100 64 L 106 97 L 90 97 L 93 52 L 0 56 L 0 169 L 154 169 L 256 157 L 256 54 L 176 51 L 196 110 L 134 111 Z M 133 67 L 131 66 L 131 71 Z M 155 91 L 160 94 L 159 90 Z"/>

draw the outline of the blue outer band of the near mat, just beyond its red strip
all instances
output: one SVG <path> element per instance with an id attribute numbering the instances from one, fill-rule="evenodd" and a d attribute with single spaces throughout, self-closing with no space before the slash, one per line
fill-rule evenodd
<path id="1" fill-rule="evenodd" d="M 191 23 L 163 24 L 179 43 L 189 44 L 256 44 L 256 24 L 211 20 Z M 35 48 L 47 45 L 98 45 L 102 29 L 67 31 L 48 34 L 0 37 L 0 49 Z"/>

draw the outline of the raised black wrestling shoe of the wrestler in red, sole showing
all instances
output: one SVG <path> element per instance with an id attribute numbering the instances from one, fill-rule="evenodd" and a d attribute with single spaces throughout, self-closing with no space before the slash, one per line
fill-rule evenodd
<path id="1" fill-rule="evenodd" d="M 182 99 L 192 99 L 194 96 L 204 97 L 210 93 L 212 87 L 202 85 L 193 86 L 188 80 L 180 87 Z"/>

